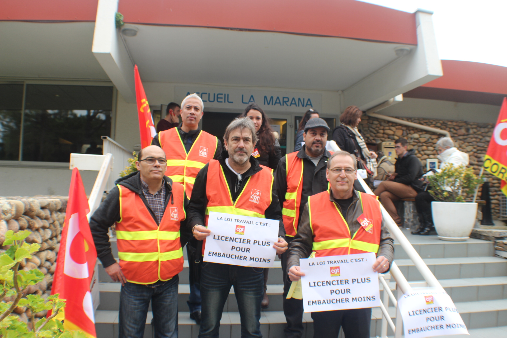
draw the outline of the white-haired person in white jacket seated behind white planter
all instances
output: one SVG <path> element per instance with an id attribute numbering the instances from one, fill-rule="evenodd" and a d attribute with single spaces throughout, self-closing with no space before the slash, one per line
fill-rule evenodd
<path id="1" fill-rule="evenodd" d="M 440 169 L 448 165 L 455 167 L 468 165 L 468 154 L 459 151 L 450 137 L 442 137 L 438 140 L 436 148 L 439 153 L 437 158 L 441 161 Z M 426 176 L 429 174 L 433 173 L 428 172 Z M 415 206 L 421 225 L 419 229 L 412 232 L 412 235 L 429 235 L 434 230 L 433 217 L 431 216 L 431 202 L 433 201 L 433 197 L 427 191 L 423 191 L 415 197 Z"/>

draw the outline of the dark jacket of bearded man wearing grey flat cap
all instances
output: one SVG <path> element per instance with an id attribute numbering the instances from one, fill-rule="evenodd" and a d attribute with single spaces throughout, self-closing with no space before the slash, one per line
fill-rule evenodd
<path id="1" fill-rule="evenodd" d="M 306 202 L 308 202 L 308 196 L 321 193 L 328 190 L 328 179 L 325 178 L 325 169 L 328 165 L 328 159 L 331 157 L 330 152 L 327 150 L 324 155 L 320 158 L 317 166 L 308 158 L 305 153 L 306 145 L 298 152 L 298 157 L 303 159 L 303 190 L 301 191 L 301 204 L 299 206 L 299 218 L 303 214 Z M 286 157 L 284 156 L 278 164 L 278 169 L 275 172 L 275 186 L 276 195 L 278 195 L 278 201 L 280 202 L 280 208 L 283 208 L 283 202 L 285 201 L 285 193 L 287 192 L 287 172 L 286 172 Z M 291 168 L 289 168 L 290 170 Z M 299 219 L 296 224 L 299 224 Z"/>

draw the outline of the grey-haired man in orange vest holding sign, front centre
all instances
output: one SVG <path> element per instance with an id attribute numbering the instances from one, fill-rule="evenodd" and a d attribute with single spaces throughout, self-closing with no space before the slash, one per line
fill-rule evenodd
<path id="1" fill-rule="evenodd" d="M 224 135 L 226 151 L 199 171 L 188 207 L 189 228 L 204 241 L 210 231 L 210 211 L 279 220 L 278 254 L 287 249 L 282 213 L 275 190 L 273 170 L 251 156 L 257 142 L 255 126 L 249 118 L 232 121 Z M 205 245 L 205 243 L 204 243 Z M 203 250 L 204 252 L 204 245 Z M 264 295 L 263 268 L 203 262 L 201 270 L 202 320 L 199 338 L 218 338 L 220 319 L 231 286 L 238 303 L 242 337 L 262 337 L 261 302 Z"/>

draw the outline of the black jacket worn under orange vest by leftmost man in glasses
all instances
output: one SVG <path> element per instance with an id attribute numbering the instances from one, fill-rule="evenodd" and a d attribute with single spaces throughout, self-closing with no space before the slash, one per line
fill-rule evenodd
<path id="1" fill-rule="evenodd" d="M 148 202 L 144 195 L 141 193 L 141 179 L 139 171 L 133 172 L 130 175 L 125 177 L 121 177 L 116 180 L 115 184 L 120 184 L 122 186 L 127 187 L 131 191 L 136 194 L 139 194 L 139 197 L 144 202 L 144 205 L 150 211 L 153 219 L 159 224 L 157 221 L 157 217 L 153 213 L 153 211 L 148 206 Z M 165 207 L 167 207 L 168 203 L 171 203 L 171 195 L 172 195 L 172 180 L 164 176 L 164 186 L 165 186 Z M 185 208 L 188 205 L 187 195 L 184 196 L 185 200 Z M 111 253 L 111 244 L 109 243 L 109 236 L 107 235 L 108 229 L 115 224 L 115 222 L 120 220 L 120 190 L 115 185 L 113 189 L 109 192 L 104 202 L 100 204 L 98 209 L 93 213 L 90 218 L 90 230 L 93 236 L 93 242 L 95 243 L 95 248 L 97 249 L 97 257 L 102 262 L 102 266 L 104 268 L 116 263 L 113 254 Z M 179 240 L 182 243 L 182 247 L 187 243 L 188 239 L 192 237 L 190 231 L 188 231 L 186 227 L 186 220 L 180 223 L 180 237 Z"/>

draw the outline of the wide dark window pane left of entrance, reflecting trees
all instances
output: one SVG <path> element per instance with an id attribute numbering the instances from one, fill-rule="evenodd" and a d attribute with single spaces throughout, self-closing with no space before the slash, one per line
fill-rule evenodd
<path id="1" fill-rule="evenodd" d="M 70 153 L 101 154 L 100 136 L 111 134 L 112 104 L 112 87 L 27 85 L 22 160 L 68 162 Z"/>

